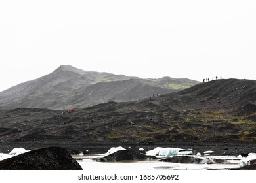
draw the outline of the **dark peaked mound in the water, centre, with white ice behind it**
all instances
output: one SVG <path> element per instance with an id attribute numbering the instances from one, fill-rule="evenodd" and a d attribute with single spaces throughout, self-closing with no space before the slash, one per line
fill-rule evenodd
<path id="1" fill-rule="evenodd" d="M 151 160 L 156 159 L 155 156 L 148 156 L 131 150 L 119 150 L 102 158 L 95 159 L 100 162 L 129 161 L 129 160 Z"/>

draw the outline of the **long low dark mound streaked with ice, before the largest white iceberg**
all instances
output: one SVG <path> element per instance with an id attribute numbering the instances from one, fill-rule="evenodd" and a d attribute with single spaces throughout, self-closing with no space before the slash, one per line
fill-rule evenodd
<path id="1" fill-rule="evenodd" d="M 173 156 L 171 158 L 159 159 L 158 161 L 171 162 L 171 163 L 192 163 L 192 164 L 226 163 L 224 159 L 197 158 L 194 156 Z"/>

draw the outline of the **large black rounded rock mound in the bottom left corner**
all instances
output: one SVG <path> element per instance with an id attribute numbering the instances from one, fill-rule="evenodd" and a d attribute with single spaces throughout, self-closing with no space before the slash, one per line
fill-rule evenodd
<path id="1" fill-rule="evenodd" d="M 64 148 L 32 150 L 0 161 L 1 170 L 82 170 Z"/>

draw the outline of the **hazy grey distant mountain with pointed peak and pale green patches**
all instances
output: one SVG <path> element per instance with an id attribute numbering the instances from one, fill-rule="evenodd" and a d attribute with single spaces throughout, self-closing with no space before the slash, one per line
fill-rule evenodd
<path id="1" fill-rule="evenodd" d="M 83 71 L 70 65 L 0 93 L 0 109 L 89 107 L 107 101 L 133 101 L 153 93 L 170 93 L 198 84 L 194 80 L 146 80 L 111 73 Z"/>

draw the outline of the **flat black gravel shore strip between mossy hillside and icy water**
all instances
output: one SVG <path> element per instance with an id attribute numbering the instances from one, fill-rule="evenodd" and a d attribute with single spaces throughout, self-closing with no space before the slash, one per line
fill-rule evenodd
<path id="1" fill-rule="evenodd" d="M 173 147 L 173 148 L 184 148 L 192 150 L 193 154 L 198 152 L 202 153 L 207 150 L 214 151 L 213 155 L 216 156 L 238 156 L 239 154 L 246 155 L 251 152 L 256 152 L 255 142 L 169 142 L 169 143 L 158 143 L 158 144 L 131 144 L 131 143 L 112 143 L 112 142 L 100 142 L 100 143 L 0 143 L 0 152 L 9 153 L 13 148 L 22 147 L 26 150 L 36 150 L 39 148 L 47 148 L 51 146 L 59 146 L 68 150 L 70 154 L 78 153 L 106 153 L 111 147 L 122 146 L 129 150 L 137 151 L 139 148 L 144 150 L 151 150 L 156 147 Z"/>

